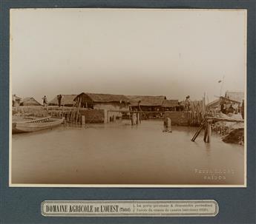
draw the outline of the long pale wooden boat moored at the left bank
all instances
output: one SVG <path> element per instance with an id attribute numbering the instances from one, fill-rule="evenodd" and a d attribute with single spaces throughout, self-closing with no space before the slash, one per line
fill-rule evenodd
<path id="1" fill-rule="evenodd" d="M 13 134 L 24 132 L 36 132 L 44 129 L 51 129 L 59 126 L 65 121 L 65 118 L 39 118 L 31 121 L 17 121 L 13 122 Z"/>

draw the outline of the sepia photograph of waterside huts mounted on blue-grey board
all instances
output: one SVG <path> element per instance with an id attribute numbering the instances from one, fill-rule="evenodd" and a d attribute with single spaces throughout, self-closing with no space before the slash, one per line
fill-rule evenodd
<path id="1" fill-rule="evenodd" d="M 10 10 L 10 186 L 246 187 L 246 10 Z"/>

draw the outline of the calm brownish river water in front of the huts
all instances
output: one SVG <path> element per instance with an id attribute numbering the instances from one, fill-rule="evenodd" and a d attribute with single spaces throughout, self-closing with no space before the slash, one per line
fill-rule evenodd
<path id="1" fill-rule="evenodd" d="M 243 184 L 243 146 L 192 142 L 196 130 L 122 121 L 13 135 L 12 183 Z"/>

